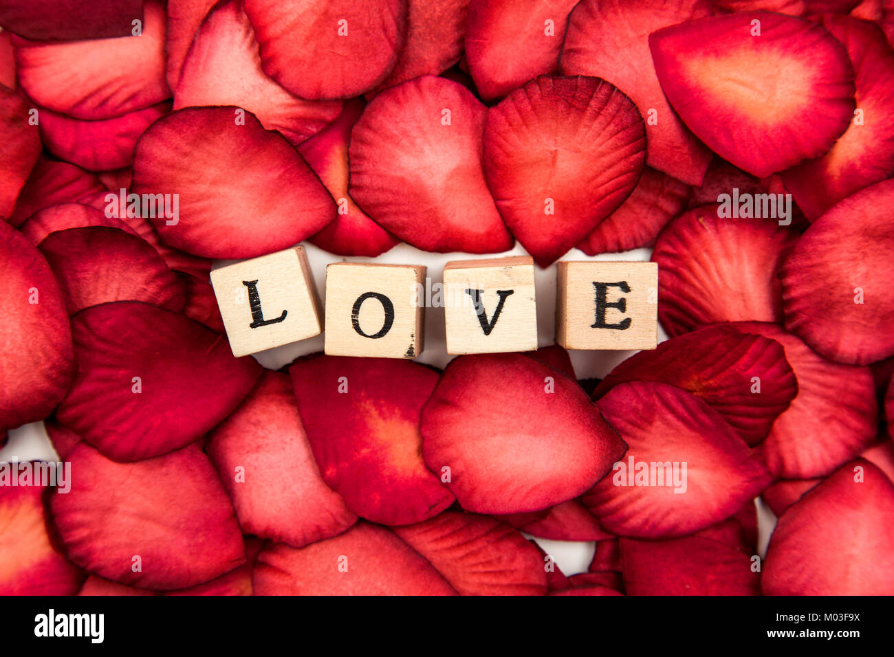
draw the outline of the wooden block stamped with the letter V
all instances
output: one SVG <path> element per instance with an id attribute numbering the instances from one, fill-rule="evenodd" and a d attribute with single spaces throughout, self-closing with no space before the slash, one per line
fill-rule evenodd
<path id="1" fill-rule="evenodd" d="M 534 260 L 527 256 L 444 265 L 447 353 L 537 348 Z"/>

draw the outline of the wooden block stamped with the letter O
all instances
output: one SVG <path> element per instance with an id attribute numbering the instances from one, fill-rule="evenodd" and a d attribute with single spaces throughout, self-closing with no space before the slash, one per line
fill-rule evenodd
<path id="1" fill-rule="evenodd" d="M 425 307 L 419 291 L 424 290 L 425 278 L 425 266 L 327 266 L 325 352 L 417 357 L 423 348 Z"/>

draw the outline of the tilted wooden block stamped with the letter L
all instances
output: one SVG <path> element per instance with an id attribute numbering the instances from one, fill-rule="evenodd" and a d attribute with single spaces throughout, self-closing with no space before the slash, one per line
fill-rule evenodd
<path id="1" fill-rule="evenodd" d="M 320 303 L 304 248 L 219 267 L 211 272 L 233 356 L 247 356 L 322 332 Z"/>

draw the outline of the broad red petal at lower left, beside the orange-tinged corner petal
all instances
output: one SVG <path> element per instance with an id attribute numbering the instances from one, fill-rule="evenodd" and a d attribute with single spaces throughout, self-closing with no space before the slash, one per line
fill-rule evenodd
<path id="1" fill-rule="evenodd" d="M 68 458 L 76 474 L 69 493 L 52 496 L 53 519 L 68 557 L 90 573 L 173 589 L 207 582 L 245 560 L 232 505 L 195 445 L 115 463 L 81 442 Z"/>

